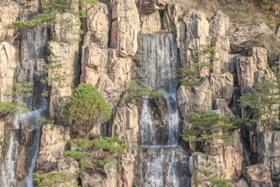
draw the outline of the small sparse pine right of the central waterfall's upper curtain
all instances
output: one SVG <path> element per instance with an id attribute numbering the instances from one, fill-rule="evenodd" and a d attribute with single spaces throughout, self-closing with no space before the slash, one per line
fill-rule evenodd
<path id="1" fill-rule="evenodd" d="M 178 81 L 186 86 L 194 86 L 199 84 L 201 78 L 200 71 L 205 68 L 213 68 L 213 62 L 219 60 L 215 56 L 216 48 L 208 45 L 199 45 L 193 51 L 191 63 L 187 68 L 180 68 Z"/>

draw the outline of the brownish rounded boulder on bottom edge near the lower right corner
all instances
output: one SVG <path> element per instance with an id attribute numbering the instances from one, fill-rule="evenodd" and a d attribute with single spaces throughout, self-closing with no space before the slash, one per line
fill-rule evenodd
<path id="1" fill-rule="evenodd" d="M 245 177 L 249 187 L 266 186 L 272 187 L 269 168 L 263 164 L 246 167 Z"/>

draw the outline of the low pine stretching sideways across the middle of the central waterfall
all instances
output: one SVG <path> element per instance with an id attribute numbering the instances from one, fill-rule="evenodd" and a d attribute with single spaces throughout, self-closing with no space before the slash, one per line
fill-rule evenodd
<path id="1" fill-rule="evenodd" d="M 134 99 L 137 97 L 142 97 L 143 99 L 152 99 L 161 97 L 163 94 L 167 94 L 166 91 L 160 89 L 147 89 L 137 83 L 138 80 L 132 80 L 129 82 L 124 82 L 120 84 L 122 90 L 115 90 L 121 93 L 121 98 L 119 98 L 118 105 L 123 103 L 133 103 Z"/>

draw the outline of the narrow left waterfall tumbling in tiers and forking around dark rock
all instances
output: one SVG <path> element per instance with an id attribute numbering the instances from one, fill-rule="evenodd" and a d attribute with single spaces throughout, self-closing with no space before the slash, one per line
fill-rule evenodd
<path id="1" fill-rule="evenodd" d="M 21 14 L 20 20 L 28 21 L 32 19 L 32 14 Z M 17 62 L 17 83 L 33 82 L 33 88 L 31 91 L 32 96 L 23 98 L 20 102 L 27 103 L 26 107 L 30 110 L 28 113 L 17 113 L 14 116 L 15 129 L 12 130 L 10 136 L 10 148 L 4 158 L 2 168 L 1 186 L 10 187 L 15 186 L 15 170 L 19 146 L 19 124 L 28 123 L 29 125 L 36 127 L 37 132 L 34 136 L 33 145 L 27 148 L 28 158 L 26 159 L 26 178 L 20 183 L 24 186 L 33 186 L 32 172 L 35 168 L 37 153 L 39 151 L 39 136 L 41 123 L 37 120 L 41 117 L 47 117 L 48 115 L 48 102 L 42 93 L 46 91 L 46 84 L 41 82 L 45 78 L 43 75 L 42 67 L 46 59 L 45 44 L 47 42 L 47 31 L 41 29 L 34 33 L 21 32 L 21 62 Z"/>

